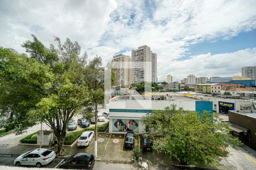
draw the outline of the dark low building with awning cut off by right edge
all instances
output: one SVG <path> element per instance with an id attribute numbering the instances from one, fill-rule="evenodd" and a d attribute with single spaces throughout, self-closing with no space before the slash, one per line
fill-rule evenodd
<path id="1" fill-rule="evenodd" d="M 256 111 L 229 111 L 232 134 L 256 150 Z"/>

